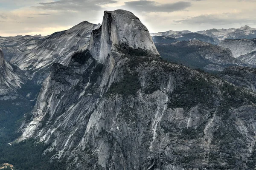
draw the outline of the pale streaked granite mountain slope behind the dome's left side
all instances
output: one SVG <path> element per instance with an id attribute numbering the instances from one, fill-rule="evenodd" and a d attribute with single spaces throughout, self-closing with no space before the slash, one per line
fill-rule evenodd
<path id="1" fill-rule="evenodd" d="M 70 56 L 90 40 L 92 30 L 98 27 L 84 21 L 67 31 L 42 38 L 2 37 L 0 46 L 9 53 L 12 64 L 26 71 L 30 79 L 35 78 L 35 82 L 40 84 L 49 74 L 53 63 L 67 65 Z"/>

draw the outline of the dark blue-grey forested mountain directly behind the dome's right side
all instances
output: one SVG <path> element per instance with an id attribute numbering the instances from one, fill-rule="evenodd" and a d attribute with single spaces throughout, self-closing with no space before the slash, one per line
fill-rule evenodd
<path id="1" fill-rule="evenodd" d="M 177 42 L 163 40 L 161 43 L 156 41 L 155 45 L 161 57 L 170 62 L 207 71 L 222 71 L 229 65 L 243 65 L 242 62 L 233 57 L 230 50 L 217 45 L 199 40 Z M 154 38 L 153 41 L 155 41 Z"/>

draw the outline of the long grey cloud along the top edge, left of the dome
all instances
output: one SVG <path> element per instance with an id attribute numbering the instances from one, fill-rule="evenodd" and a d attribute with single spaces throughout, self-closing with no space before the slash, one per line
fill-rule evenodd
<path id="1" fill-rule="evenodd" d="M 63 10 L 63 11 L 84 11 L 84 10 L 102 10 L 106 4 L 117 3 L 116 0 L 58 0 L 48 3 L 39 3 L 40 6 L 34 6 L 39 9 Z"/>

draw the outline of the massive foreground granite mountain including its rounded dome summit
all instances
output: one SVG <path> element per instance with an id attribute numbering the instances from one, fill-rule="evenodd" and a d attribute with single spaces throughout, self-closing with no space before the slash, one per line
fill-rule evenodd
<path id="1" fill-rule="evenodd" d="M 252 168 L 253 94 L 161 60 L 136 18 L 106 11 L 89 48 L 52 66 L 17 141 L 50 144 L 67 169 Z"/>

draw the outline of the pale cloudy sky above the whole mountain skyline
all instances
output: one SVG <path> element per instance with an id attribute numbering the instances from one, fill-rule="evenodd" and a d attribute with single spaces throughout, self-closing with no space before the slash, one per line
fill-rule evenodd
<path id="1" fill-rule="evenodd" d="M 82 21 L 102 23 L 103 12 L 133 12 L 151 33 L 211 28 L 256 28 L 256 0 L 0 0 L 0 36 L 43 36 Z"/>

